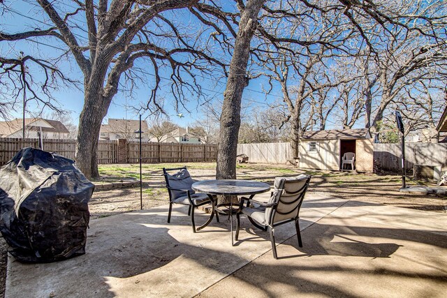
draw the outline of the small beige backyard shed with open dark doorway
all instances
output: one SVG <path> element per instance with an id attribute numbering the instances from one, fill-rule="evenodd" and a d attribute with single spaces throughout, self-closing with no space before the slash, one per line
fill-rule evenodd
<path id="1" fill-rule="evenodd" d="M 367 128 L 309 131 L 300 138 L 300 167 L 342 170 L 342 157 L 356 154 L 356 170 L 372 172 L 373 139 Z"/>

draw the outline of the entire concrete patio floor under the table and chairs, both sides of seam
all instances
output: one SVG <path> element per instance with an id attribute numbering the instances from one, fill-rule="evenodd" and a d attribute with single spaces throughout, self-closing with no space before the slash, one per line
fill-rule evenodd
<path id="1" fill-rule="evenodd" d="M 309 193 L 293 224 L 267 232 L 243 218 L 231 246 L 221 216 L 193 233 L 186 207 L 91 221 L 87 253 L 50 264 L 8 260 L 6 297 L 439 296 L 447 290 L 444 214 Z M 200 213 L 199 213 L 200 214 Z M 205 217 L 205 216 L 204 216 Z M 441 292 L 444 291 L 444 292 Z"/>

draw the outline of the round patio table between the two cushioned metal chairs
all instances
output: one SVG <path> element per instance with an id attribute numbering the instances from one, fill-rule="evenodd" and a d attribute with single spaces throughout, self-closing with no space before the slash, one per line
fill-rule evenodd
<path id="1" fill-rule="evenodd" d="M 258 193 L 270 191 L 270 185 L 264 182 L 237 179 L 219 179 L 203 180 L 194 183 L 194 191 L 206 193 L 212 198 L 212 195 L 250 195 L 250 199 Z M 233 202 L 230 200 L 230 225 L 231 225 L 231 245 L 233 241 Z"/>

